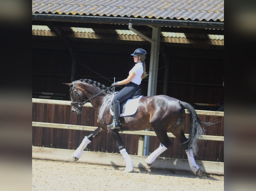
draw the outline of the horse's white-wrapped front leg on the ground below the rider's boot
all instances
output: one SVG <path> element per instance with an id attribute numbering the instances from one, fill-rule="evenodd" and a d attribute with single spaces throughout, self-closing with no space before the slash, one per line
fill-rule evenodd
<path id="1" fill-rule="evenodd" d="M 132 159 L 130 157 L 130 155 L 127 153 L 125 147 L 124 147 L 124 143 L 122 141 L 122 138 L 118 132 L 118 129 L 110 129 L 108 128 L 109 133 L 112 135 L 112 137 L 114 138 L 114 140 L 116 141 L 116 144 L 119 148 L 119 152 L 122 154 L 125 163 L 126 163 L 126 167 L 125 167 L 125 172 L 133 172 L 133 162 Z"/>

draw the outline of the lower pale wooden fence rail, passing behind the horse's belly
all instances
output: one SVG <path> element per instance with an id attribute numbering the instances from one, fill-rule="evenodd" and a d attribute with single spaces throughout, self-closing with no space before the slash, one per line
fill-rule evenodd
<path id="1" fill-rule="evenodd" d="M 34 122 L 32 121 L 32 126 L 36 127 L 49 127 L 49 128 L 60 128 L 60 129 L 72 129 L 72 130 L 84 130 L 84 131 L 94 131 L 97 127 L 93 126 L 82 126 L 82 125 L 70 125 L 70 124 L 59 124 L 59 123 L 45 123 L 45 122 Z M 123 131 L 121 134 L 133 134 L 133 135 L 148 135 L 156 136 L 154 131 Z M 167 133 L 168 137 L 175 138 L 172 133 Z M 185 134 L 188 138 L 188 134 Z M 212 140 L 212 141 L 224 141 L 224 136 L 212 136 L 212 135 L 202 135 L 199 137 L 201 140 Z"/>

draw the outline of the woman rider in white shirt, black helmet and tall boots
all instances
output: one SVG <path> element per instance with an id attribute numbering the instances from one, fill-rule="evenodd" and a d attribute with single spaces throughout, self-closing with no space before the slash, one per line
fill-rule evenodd
<path id="1" fill-rule="evenodd" d="M 144 49 L 138 48 L 134 51 L 131 56 L 133 56 L 133 61 L 136 63 L 135 66 L 130 70 L 129 76 L 119 82 L 113 83 L 111 86 L 116 87 L 120 85 L 125 85 L 125 87 L 120 90 L 114 97 L 112 105 L 114 106 L 114 117 L 113 122 L 107 127 L 111 129 L 119 129 L 120 128 L 120 103 L 127 100 L 131 95 L 133 95 L 137 90 L 140 89 L 139 85 L 141 84 L 141 80 L 148 76 L 146 72 L 146 59 L 147 52 Z"/>

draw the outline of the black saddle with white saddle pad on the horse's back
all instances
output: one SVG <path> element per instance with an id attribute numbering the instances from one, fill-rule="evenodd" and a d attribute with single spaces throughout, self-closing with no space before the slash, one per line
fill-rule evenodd
<path id="1" fill-rule="evenodd" d="M 115 92 L 114 95 L 112 95 L 111 103 L 113 102 L 114 96 L 118 92 L 119 91 Z M 141 97 L 143 97 L 143 95 L 141 95 L 141 89 L 139 89 L 133 95 L 131 95 L 126 101 L 123 101 L 122 103 L 120 103 L 120 117 L 134 114 L 137 111 L 138 102 Z M 111 104 L 110 105 L 111 115 L 114 114 L 113 109 L 114 109 L 113 105 Z"/>

